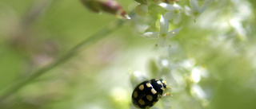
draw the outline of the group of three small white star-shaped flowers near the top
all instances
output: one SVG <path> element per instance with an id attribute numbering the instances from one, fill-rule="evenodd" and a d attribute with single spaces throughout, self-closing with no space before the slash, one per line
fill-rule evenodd
<path id="1" fill-rule="evenodd" d="M 214 0 L 206 0 L 204 4 L 199 7 L 198 0 L 190 0 L 190 7 L 185 6 L 185 12 L 188 16 L 194 16 L 194 21 L 198 17 L 198 15 L 202 14 L 204 10 L 210 4 L 214 2 Z M 158 39 L 158 44 L 156 46 L 166 47 L 170 46 L 169 38 L 176 36 L 180 29 L 174 29 L 169 31 L 169 21 L 173 20 L 174 24 L 178 24 L 181 21 L 181 14 L 183 12 L 182 6 L 179 6 L 176 2 L 174 5 L 170 5 L 166 2 L 159 3 L 163 9 L 167 12 L 164 15 L 161 15 L 160 18 L 160 32 L 146 32 L 142 35 L 142 37 L 146 37 L 147 39 Z"/>

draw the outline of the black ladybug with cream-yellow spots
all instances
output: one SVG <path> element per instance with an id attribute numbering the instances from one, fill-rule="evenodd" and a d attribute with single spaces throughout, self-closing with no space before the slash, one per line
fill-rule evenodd
<path id="1" fill-rule="evenodd" d="M 134 89 L 132 94 L 132 102 L 135 107 L 149 108 L 158 102 L 160 97 L 170 95 L 169 93 L 162 94 L 167 88 L 166 81 L 162 79 L 146 80 Z"/>

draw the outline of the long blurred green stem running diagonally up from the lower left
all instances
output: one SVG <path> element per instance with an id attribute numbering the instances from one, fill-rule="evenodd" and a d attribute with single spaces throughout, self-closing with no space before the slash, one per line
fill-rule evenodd
<path id="1" fill-rule="evenodd" d="M 74 48 L 70 49 L 69 52 L 67 52 L 64 56 L 62 56 L 58 60 L 54 61 L 51 64 L 48 64 L 46 67 L 38 69 L 38 71 L 33 72 L 32 75 L 30 75 L 26 79 L 22 79 L 16 84 L 10 86 L 10 88 L 7 88 L 6 92 L 3 92 L 3 95 L 0 96 L 0 102 L 3 99 L 6 99 L 8 96 L 14 94 L 16 91 L 24 87 L 26 84 L 38 78 L 38 76 L 41 76 L 42 74 L 48 72 L 50 69 L 58 66 L 59 64 L 62 64 L 63 62 L 68 60 L 70 57 L 78 54 L 82 50 L 82 48 L 85 47 L 86 45 L 90 44 L 91 42 L 98 41 L 102 37 L 106 37 L 107 34 L 112 33 L 116 29 L 119 29 L 122 26 L 123 22 L 124 21 L 122 20 L 118 20 L 113 23 L 110 23 L 109 25 L 106 25 L 106 27 L 101 29 L 98 33 L 95 33 L 94 35 L 90 36 L 89 38 L 82 41 L 78 45 L 75 45 Z"/>

